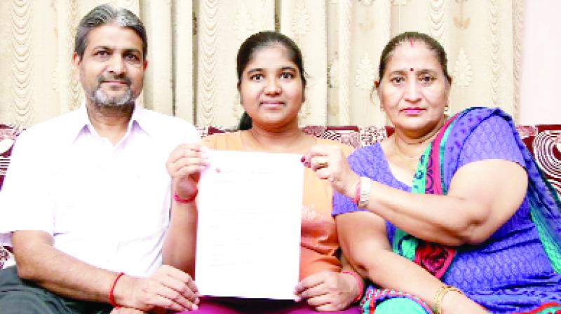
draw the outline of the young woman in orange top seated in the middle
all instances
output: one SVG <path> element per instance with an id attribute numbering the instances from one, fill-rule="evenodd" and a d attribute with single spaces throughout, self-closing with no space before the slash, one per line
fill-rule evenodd
<path id="1" fill-rule="evenodd" d="M 323 144 L 337 147 L 344 155 L 351 153 L 349 146 L 306 135 L 299 129 L 298 111 L 304 102 L 306 78 L 302 53 L 287 36 L 276 32 L 250 36 L 238 50 L 237 71 L 245 109 L 241 130 L 205 137 L 203 145 L 211 149 L 303 155 L 311 146 Z M 176 196 L 163 259 L 189 273 L 194 269 L 196 179 L 207 165 L 198 145 L 179 146 L 168 160 Z M 297 303 L 206 298 L 196 313 L 358 313 L 358 307 L 351 303 L 362 295 L 362 278 L 336 256 L 339 243 L 331 210 L 330 184 L 305 169 Z"/>

